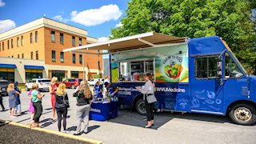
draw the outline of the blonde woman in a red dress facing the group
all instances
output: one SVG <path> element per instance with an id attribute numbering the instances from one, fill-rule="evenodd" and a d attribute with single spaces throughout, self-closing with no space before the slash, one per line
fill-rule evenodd
<path id="1" fill-rule="evenodd" d="M 50 86 L 49 86 L 49 92 L 51 94 L 51 98 L 50 98 L 50 101 L 51 101 L 51 108 L 52 108 L 52 113 L 53 113 L 53 118 L 52 118 L 52 123 L 54 123 L 56 121 L 56 118 L 55 118 L 55 102 L 56 102 L 56 99 L 55 99 L 55 92 L 58 88 L 58 85 L 57 85 L 57 80 L 58 78 L 57 77 L 53 77 L 51 78 L 51 81 L 50 81 Z"/>

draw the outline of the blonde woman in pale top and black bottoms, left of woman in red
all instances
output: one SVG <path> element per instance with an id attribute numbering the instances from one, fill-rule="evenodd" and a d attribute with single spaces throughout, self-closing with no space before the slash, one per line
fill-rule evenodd
<path id="1" fill-rule="evenodd" d="M 45 94 L 40 94 L 38 92 L 38 84 L 33 83 L 32 85 L 32 102 L 34 106 L 34 118 L 32 122 L 32 127 L 41 127 L 39 125 L 39 119 L 42 115 L 42 98 L 45 96 Z"/>

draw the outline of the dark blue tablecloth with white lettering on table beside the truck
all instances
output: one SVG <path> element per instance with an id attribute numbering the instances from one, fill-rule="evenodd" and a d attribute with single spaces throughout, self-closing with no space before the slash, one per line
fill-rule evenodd
<path id="1" fill-rule="evenodd" d="M 96 121 L 106 121 L 118 116 L 118 102 L 92 102 L 89 118 Z"/>

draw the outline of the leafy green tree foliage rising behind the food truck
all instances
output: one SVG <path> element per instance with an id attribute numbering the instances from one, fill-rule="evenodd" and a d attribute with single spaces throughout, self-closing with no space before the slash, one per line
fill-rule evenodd
<path id="1" fill-rule="evenodd" d="M 218 35 L 247 70 L 256 69 L 255 0 L 132 0 L 111 38 L 154 31 L 178 37 Z"/>

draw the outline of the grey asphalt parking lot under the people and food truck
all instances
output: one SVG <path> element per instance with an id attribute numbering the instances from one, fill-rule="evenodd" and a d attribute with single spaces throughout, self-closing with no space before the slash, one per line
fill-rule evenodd
<path id="1" fill-rule="evenodd" d="M 73 134 L 76 129 L 76 100 L 72 97 L 73 90 L 68 90 L 70 108 L 67 118 L 67 130 Z M 30 122 L 28 113 L 29 99 L 27 92 L 21 96 L 22 111 L 18 118 L 10 118 L 9 110 L 0 112 L 0 119 L 27 124 Z M 8 109 L 8 97 L 3 98 Z M 43 129 L 58 131 L 57 122 L 52 124 L 50 94 L 42 101 L 43 114 L 41 122 Z M 206 114 L 155 114 L 154 127 L 142 128 L 146 122 L 144 116 L 132 110 L 119 110 L 118 117 L 106 122 L 90 121 L 89 133 L 81 137 L 102 141 L 103 143 L 256 143 L 256 125 L 239 126 L 229 118 Z M 1 129 L 1 127 L 0 127 Z M 1 137 L 0 137 L 1 138 Z M 43 137 L 42 137 L 43 138 Z M 0 140 L 1 143 L 1 140 Z"/>

